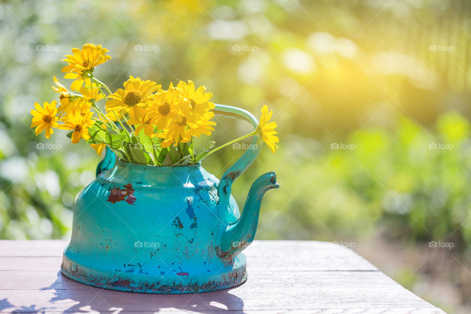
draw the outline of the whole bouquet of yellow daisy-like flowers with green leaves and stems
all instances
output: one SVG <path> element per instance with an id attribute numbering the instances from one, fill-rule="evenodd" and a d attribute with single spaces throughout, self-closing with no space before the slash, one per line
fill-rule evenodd
<path id="1" fill-rule="evenodd" d="M 255 131 L 217 148 L 209 142 L 196 153 L 194 137 L 210 135 L 216 125 L 211 121 L 215 107 L 209 101 L 212 93 L 206 92 L 205 86 L 196 88 L 191 80 L 179 81 L 177 86 L 170 83 L 164 90 L 152 80 L 132 76 L 123 83 L 124 88 L 112 93 L 93 75 L 98 65 L 111 59 L 106 52 L 102 45 L 85 44 L 61 60 L 67 62 L 62 68 L 64 78 L 74 81 L 68 90 L 53 77 L 56 86 L 52 89 L 59 94 L 60 105 L 57 107 L 56 101 L 42 107 L 34 104 L 31 127 L 36 127 L 36 135 L 45 131 L 50 138 L 53 128 L 69 130 L 67 136 L 73 143 L 83 139 L 98 155 L 107 146 L 124 161 L 164 166 L 195 164 L 257 133 L 273 153 L 278 149 L 276 123 L 269 122 L 272 111 L 264 105 Z"/>

